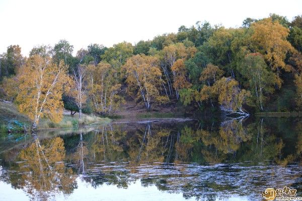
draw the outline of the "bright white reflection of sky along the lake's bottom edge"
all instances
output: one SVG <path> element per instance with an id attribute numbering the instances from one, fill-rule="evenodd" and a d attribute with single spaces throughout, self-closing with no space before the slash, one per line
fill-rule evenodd
<path id="1" fill-rule="evenodd" d="M 195 200 L 195 197 L 185 199 L 182 193 L 169 193 L 159 191 L 155 185 L 148 187 L 141 186 L 140 181 L 132 182 L 128 188 L 118 188 L 115 185 L 102 185 L 98 188 L 92 187 L 89 183 L 77 179 L 78 188 L 74 189 L 69 196 L 57 195 L 54 200 Z M 10 184 L 0 181 L 0 200 L 23 201 L 30 200 L 23 190 L 14 189 Z M 51 199 L 50 199 L 51 200 Z M 223 199 L 219 199 L 223 200 Z M 248 200 L 245 197 L 229 197 L 225 200 Z"/>

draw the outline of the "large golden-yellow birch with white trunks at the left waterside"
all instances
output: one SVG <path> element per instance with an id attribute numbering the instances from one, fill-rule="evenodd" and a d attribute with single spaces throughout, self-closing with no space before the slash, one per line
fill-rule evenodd
<path id="1" fill-rule="evenodd" d="M 61 120 L 63 86 L 69 80 L 66 66 L 56 64 L 50 57 L 31 56 L 20 69 L 18 109 L 33 120 L 35 131 L 41 118 Z"/>

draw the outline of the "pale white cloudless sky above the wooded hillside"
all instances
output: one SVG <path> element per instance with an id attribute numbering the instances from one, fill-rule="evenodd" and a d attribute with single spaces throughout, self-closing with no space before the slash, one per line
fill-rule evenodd
<path id="1" fill-rule="evenodd" d="M 239 27 L 247 17 L 264 18 L 270 13 L 291 21 L 302 15 L 302 0 L 0 0 L 0 53 L 19 44 L 28 55 L 35 45 L 53 46 L 66 39 L 75 54 L 91 43 L 135 44 L 205 20 Z"/>

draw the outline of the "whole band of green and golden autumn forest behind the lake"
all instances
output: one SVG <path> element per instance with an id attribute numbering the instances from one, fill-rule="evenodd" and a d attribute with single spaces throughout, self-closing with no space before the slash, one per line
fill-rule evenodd
<path id="1" fill-rule="evenodd" d="M 106 40 L 106 39 L 104 39 Z M 246 116 L 302 107 L 302 15 L 270 14 L 239 28 L 208 22 L 136 44 L 90 44 L 73 56 L 60 40 L 37 45 L 28 57 L 19 45 L 0 54 L 0 99 L 13 102 L 36 129 L 59 122 L 63 110 L 114 115 L 127 101 L 145 111 L 186 108 Z"/>

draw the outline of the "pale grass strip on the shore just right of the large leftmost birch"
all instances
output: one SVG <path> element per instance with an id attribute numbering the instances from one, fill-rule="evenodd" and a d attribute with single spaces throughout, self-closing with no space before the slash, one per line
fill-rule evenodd
<path id="1" fill-rule="evenodd" d="M 95 115 L 87 115 L 82 114 L 81 119 L 78 115 L 74 115 L 73 117 L 64 115 L 63 119 L 54 123 L 48 119 L 42 119 L 38 125 L 38 129 L 49 129 L 49 128 L 75 128 L 81 127 L 85 125 L 99 125 L 99 124 L 107 124 L 110 122 L 109 118 L 101 118 Z"/>

